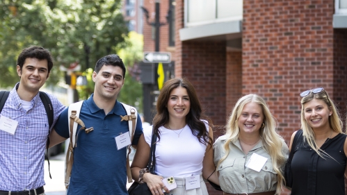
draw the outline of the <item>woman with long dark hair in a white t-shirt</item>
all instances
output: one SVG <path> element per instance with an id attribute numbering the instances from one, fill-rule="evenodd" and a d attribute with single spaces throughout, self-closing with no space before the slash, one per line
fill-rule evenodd
<path id="1" fill-rule="evenodd" d="M 170 176 L 177 183 L 170 194 L 208 194 L 202 176 L 218 183 L 213 172 L 213 134 L 211 121 L 202 114 L 193 85 L 184 78 L 166 81 L 156 102 L 156 112 L 153 126 L 143 129 L 138 142 L 131 164 L 134 180 L 147 183 L 153 195 L 169 193 L 162 179 Z M 158 137 L 156 175 L 145 169 L 150 157 L 152 130 Z M 192 177 L 197 182 L 193 187 L 186 186 Z"/>

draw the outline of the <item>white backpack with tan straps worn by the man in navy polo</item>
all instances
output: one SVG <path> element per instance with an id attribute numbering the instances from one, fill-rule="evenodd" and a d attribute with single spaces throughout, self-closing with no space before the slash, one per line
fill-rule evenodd
<path id="1" fill-rule="evenodd" d="M 77 137 L 76 131 L 77 126 L 80 125 L 80 130 L 85 130 L 86 133 L 90 133 L 90 131 L 93 130 L 93 128 L 86 128 L 83 121 L 79 119 L 79 114 L 81 112 L 83 101 L 79 101 L 76 103 L 72 103 L 69 106 L 69 110 L 67 112 L 68 117 L 68 124 L 69 124 L 69 131 L 70 131 L 70 144 L 67 149 L 66 158 L 65 158 L 65 187 L 66 189 L 69 187 L 70 184 L 70 176 L 71 176 L 71 170 L 72 170 L 72 164 L 74 163 L 74 147 L 77 146 Z M 127 111 L 127 115 L 120 116 L 120 121 L 128 121 L 129 124 L 129 135 L 131 143 L 133 142 L 135 128 L 136 128 L 136 121 L 137 121 L 137 110 L 136 108 L 127 105 L 125 103 L 122 103 L 123 108 Z M 128 183 L 132 183 L 133 179 L 131 177 L 131 171 L 130 171 L 130 164 L 129 164 L 129 154 L 131 153 L 130 146 L 127 146 L 127 176 L 128 176 Z"/>

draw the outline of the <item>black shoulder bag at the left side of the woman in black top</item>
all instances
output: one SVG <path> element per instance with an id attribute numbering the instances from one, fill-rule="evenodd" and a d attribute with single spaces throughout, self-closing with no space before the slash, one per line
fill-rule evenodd
<path id="1" fill-rule="evenodd" d="M 286 167 L 284 168 L 284 180 L 286 181 L 286 186 L 291 188 L 293 185 L 293 174 L 291 173 L 291 160 L 293 159 L 294 151 L 298 144 L 298 140 L 302 139 L 302 130 L 298 130 L 294 136 L 293 143 L 291 144 L 291 152 L 289 153 L 289 158 L 286 162 Z"/>

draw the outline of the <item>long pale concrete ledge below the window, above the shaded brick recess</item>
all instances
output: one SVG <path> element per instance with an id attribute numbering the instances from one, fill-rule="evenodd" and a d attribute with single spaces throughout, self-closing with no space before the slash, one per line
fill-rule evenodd
<path id="1" fill-rule="evenodd" d="M 194 40 L 202 37 L 211 37 L 216 35 L 227 35 L 232 33 L 241 33 L 242 21 L 220 22 L 194 26 L 190 28 L 181 28 L 179 30 L 179 40 Z"/>

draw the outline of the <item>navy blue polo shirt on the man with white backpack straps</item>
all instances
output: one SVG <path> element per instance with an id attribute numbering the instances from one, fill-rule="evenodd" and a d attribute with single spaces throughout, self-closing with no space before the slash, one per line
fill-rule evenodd
<path id="1" fill-rule="evenodd" d="M 74 148 L 74 164 L 67 194 L 120 194 L 127 195 L 127 150 L 117 149 L 115 137 L 129 131 L 128 121 L 120 121 L 120 115 L 127 115 L 122 104 L 116 101 L 111 112 L 105 115 L 90 98 L 83 102 L 79 118 L 86 128 L 93 127 L 90 133 L 79 132 Z M 60 115 L 54 129 L 62 137 L 70 137 L 68 128 L 68 108 Z M 138 116 L 132 144 L 138 144 L 142 123 Z"/>

